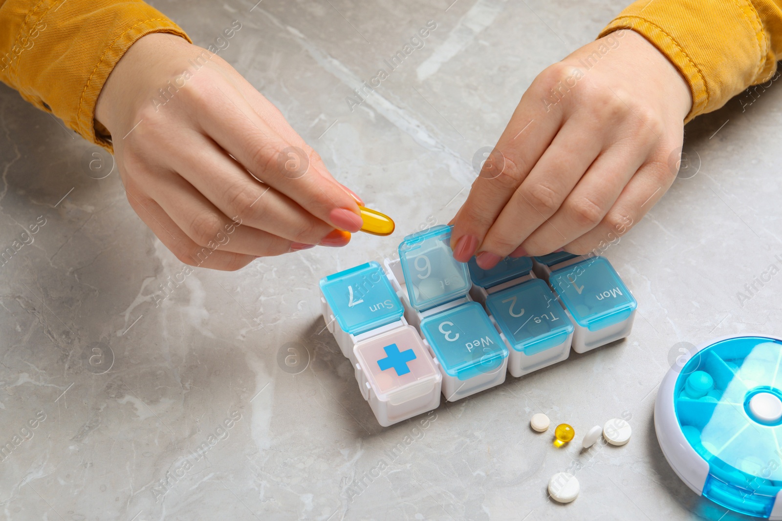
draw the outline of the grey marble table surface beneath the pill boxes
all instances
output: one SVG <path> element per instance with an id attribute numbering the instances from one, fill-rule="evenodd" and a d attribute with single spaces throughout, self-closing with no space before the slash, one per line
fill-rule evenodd
<path id="1" fill-rule="evenodd" d="M 680 342 L 782 331 L 782 277 L 755 282 L 782 267 L 776 85 L 688 125 L 687 170 L 606 252 L 639 302 L 626 341 L 388 428 L 361 398 L 317 281 L 447 222 L 536 73 L 622 8 L 451 2 L 153 2 L 199 45 L 238 20 L 220 55 L 397 220 L 392 237 L 236 273 L 183 277 L 110 157 L 91 168 L 94 146 L 0 87 L 0 249 L 37 230 L 0 266 L 0 444 L 21 439 L 0 461 L 0 518 L 740 519 L 680 482 L 652 411 Z M 535 412 L 580 434 L 624 415 L 633 439 L 556 449 Z M 558 505 L 546 485 L 565 469 L 581 494 Z"/>

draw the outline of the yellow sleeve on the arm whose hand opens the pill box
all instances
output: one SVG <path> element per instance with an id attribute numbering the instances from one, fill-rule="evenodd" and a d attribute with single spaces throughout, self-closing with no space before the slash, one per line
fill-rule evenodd
<path id="1" fill-rule="evenodd" d="M 620 28 L 646 37 L 690 84 L 687 122 L 773 76 L 782 52 L 782 0 L 638 0 L 600 36 Z"/>

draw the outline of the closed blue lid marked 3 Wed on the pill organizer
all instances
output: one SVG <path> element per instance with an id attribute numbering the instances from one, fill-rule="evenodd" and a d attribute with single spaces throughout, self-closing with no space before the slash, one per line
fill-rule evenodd
<path id="1" fill-rule="evenodd" d="M 421 333 L 440 366 L 459 380 L 491 373 L 508 358 L 508 348 L 478 302 L 421 320 Z"/>

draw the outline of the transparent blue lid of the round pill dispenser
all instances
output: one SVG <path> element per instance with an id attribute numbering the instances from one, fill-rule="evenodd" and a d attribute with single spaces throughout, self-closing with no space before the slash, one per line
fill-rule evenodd
<path id="1" fill-rule="evenodd" d="M 708 462 L 702 494 L 750 516 L 768 517 L 782 489 L 780 366 L 780 341 L 733 337 L 695 353 L 674 387 L 684 437 Z"/>

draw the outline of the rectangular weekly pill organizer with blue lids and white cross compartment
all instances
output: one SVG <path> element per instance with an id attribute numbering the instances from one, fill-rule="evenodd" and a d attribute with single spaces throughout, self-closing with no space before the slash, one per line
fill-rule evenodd
<path id="1" fill-rule="evenodd" d="M 458 262 L 451 227 L 404 237 L 399 258 L 320 281 L 328 330 L 382 426 L 630 334 L 637 302 L 603 257 Z"/>

